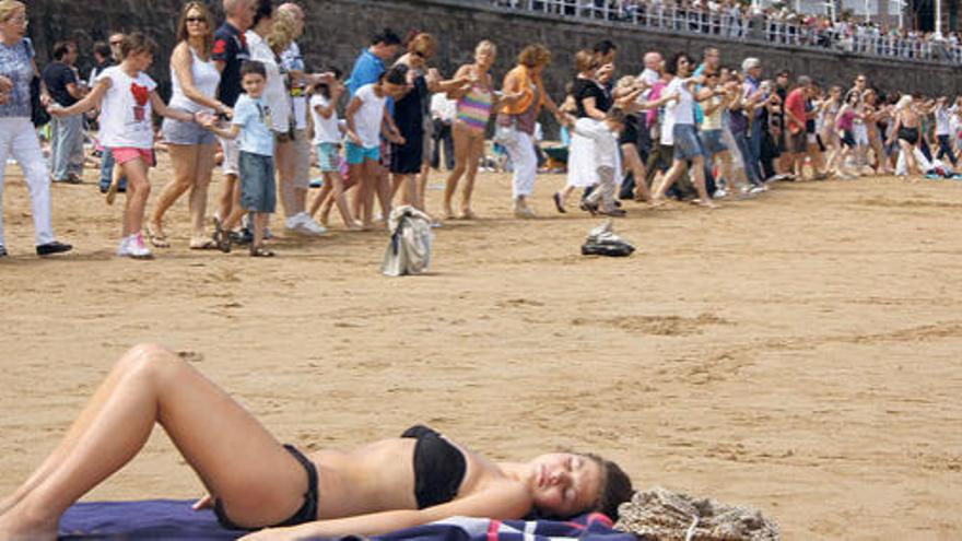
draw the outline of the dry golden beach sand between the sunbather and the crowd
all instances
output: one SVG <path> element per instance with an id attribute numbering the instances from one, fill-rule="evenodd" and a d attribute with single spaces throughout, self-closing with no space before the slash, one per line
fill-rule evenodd
<path id="1" fill-rule="evenodd" d="M 756 506 L 786 539 L 962 538 L 962 183 L 782 185 L 715 212 L 630 203 L 617 226 L 638 252 L 589 259 L 599 221 L 554 213 L 562 177 L 539 177 L 543 219 L 520 222 L 507 176 L 485 174 L 483 219 L 437 231 L 430 275 L 388 279 L 380 232 L 282 238 L 274 260 L 189 251 L 186 200 L 174 248 L 117 259 L 120 209 L 91 172 L 54 188 L 77 250 L 39 260 L 8 173 L 0 493 L 126 348 L 159 341 L 310 449 L 426 422 L 496 458 L 597 450 L 640 487 Z M 159 431 L 87 498 L 200 493 Z"/>

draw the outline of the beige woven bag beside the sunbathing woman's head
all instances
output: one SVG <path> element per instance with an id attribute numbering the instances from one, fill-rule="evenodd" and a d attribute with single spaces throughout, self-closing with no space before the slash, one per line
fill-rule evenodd
<path id="1" fill-rule="evenodd" d="M 758 509 L 695 498 L 661 486 L 635 492 L 614 529 L 640 541 L 777 541 L 778 525 Z"/>

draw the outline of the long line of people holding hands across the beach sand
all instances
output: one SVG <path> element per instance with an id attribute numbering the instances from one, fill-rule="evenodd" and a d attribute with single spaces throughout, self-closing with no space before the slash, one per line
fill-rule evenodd
<path id="1" fill-rule="evenodd" d="M 951 176 L 957 163 L 962 104 L 884 94 L 860 74 L 846 89 L 805 75 L 793 82 L 786 71 L 765 80 L 760 59 L 730 66 L 708 47 L 697 61 L 649 51 L 641 74 L 618 77 L 618 48 L 605 40 L 571 60 L 572 83 L 555 102 L 541 77 L 552 61 L 543 45 L 525 47 L 498 86 L 491 73 L 495 43 L 479 43 L 473 61 L 446 78 L 430 64 L 435 36 L 413 31 L 401 38 L 385 28 L 345 75 L 333 66 L 306 68 L 296 43 L 305 24 L 298 5 L 224 0 L 224 11 L 216 26 L 203 2 L 184 5 L 165 103 L 146 74 L 157 48 L 150 37 L 114 33 L 95 45 L 87 85 L 70 42 L 55 45 L 39 71 L 26 7 L 0 0 L 0 163 L 12 156 L 24 170 L 37 254 L 71 249 L 50 225 L 50 181 L 79 180 L 87 113 L 98 124 L 99 187 L 108 201 L 126 191 L 117 254 L 131 258 L 169 248 L 164 219 L 186 193 L 191 249 L 247 245 L 255 257 L 274 255 L 267 240 L 278 201 L 284 227 L 303 235 L 333 226 L 335 208 L 348 231 L 386 222 L 398 204 L 427 212 L 436 224 L 473 220 L 492 126 L 493 146 L 513 175 L 514 213 L 533 217 L 542 109 L 571 141 L 567 183 L 552 198 L 562 213 L 576 192 L 584 211 L 620 216 L 625 199 L 660 205 L 674 197 L 715 207 L 727 197 L 756 196 L 773 180 Z M 32 124 L 44 113 L 52 116 L 49 169 Z M 164 117 L 160 132 L 154 115 Z M 434 148 L 446 140 L 443 208 L 429 212 L 431 163 L 439 162 Z M 173 178 L 148 212 L 159 144 Z M 218 161 L 224 183 L 209 220 Z M 322 181 L 312 196 L 315 163 Z M 0 257 L 2 233 L 0 221 Z"/>

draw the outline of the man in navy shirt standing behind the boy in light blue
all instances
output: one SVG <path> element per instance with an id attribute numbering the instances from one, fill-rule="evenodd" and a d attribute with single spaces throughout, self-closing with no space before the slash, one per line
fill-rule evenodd
<path id="1" fill-rule="evenodd" d="M 241 96 L 241 66 L 250 58 L 247 49 L 247 39 L 244 33 L 254 23 L 254 14 L 257 10 L 254 0 L 224 0 L 224 13 L 227 20 L 214 32 L 214 45 L 212 58 L 218 71 L 221 72 L 221 84 L 218 86 L 218 99 L 227 107 L 234 107 L 237 97 Z M 236 205 L 241 204 L 241 185 L 237 177 L 241 174 L 238 160 L 241 156 L 237 140 L 221 139 L 221 148 L 224 151 L 224 191 L 221 193 L 221 204 L 214 220 L 226 220 Z"/>

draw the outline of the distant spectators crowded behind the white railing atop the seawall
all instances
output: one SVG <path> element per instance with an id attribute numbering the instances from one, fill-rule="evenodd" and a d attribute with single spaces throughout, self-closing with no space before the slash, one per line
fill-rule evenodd
<path id="1" fill-rule="evenodd" d="M 540 13 L 632 23 L 668 32 L 754 38 L 789 46 L 962 63 L 955 32 L 937 35 L 904 26 L 800 13 L 790 2 L 752 5 L 741 0 L 478 0 Z"/>

